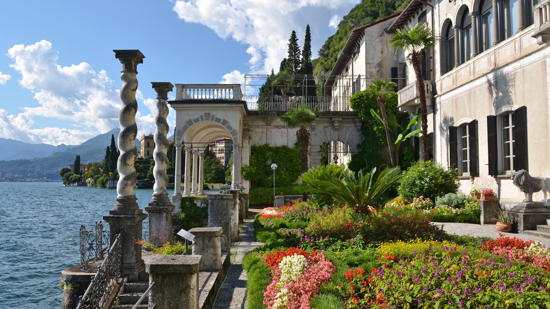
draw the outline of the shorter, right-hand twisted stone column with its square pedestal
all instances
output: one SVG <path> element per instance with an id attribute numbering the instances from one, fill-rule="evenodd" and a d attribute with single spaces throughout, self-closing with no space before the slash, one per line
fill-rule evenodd
<path id="1" fill-rule="evenodd" d="M 162 246 L 164 242 L 172 240 L 172 211 L 175 206 L 172 205 L 168 198 L 166 185 L 168 184 L 168 123 L 166 117 L 168 115 L 168 92 L 172 91 L 174 85 L 169 82 L 151 82 L 153 89 L 157 92 L 157 114 L 155 115 L 155 123 L 157 129 L 155 131 L 155 168 L 153 168 L 153 176 L 155 177 L 155 185 L 153 186 L 153 197 L 149 206 L 145 207 L 145 211 L 149 214 L 149 242 L 157 246 Z"/>

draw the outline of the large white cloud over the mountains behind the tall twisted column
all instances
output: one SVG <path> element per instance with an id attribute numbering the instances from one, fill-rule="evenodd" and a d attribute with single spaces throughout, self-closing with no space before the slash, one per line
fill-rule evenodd
<path id="1" fill-rule="evenodd" d="M 59 53 L 46 40 L 8 49 L 8 57 L 13 60 L 10 67 L 21 74 L 19 84 L 34 93 L 40 106 L 24 107 L 23 113 L 17 116 L 0 109 L 0 136 L 26 142 L 78 145 L 119 127 L 119 90 L 107 72 L 96 72 L 85 62 L 62 67 L 57 64 L 58 56 Z M 154 127 L 155 101 L 144 98 L 140 91 L 136 97 L 143 103 L 138 107 L 142 119 L 136 119 L 136 122 L 139 120 L 149 125 L 152 119 Z M 31 128 L 35 116 L 63 120 L 79 129 Z M 150 129 L 139 125 L 138 136 Z"/>

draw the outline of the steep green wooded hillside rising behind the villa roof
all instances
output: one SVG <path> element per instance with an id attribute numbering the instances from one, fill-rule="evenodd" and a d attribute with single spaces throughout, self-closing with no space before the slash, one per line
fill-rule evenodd
<path id="1" fill-rule="evenodd" d="M 330 73 L 351 30 L 397 13 L 407 4 L 408 0 L 362 0 L 361 3 L 357 3 L 340 21 L 336 33 L 328 37 L 319 49 L 319 58 L 313 60 L 313 75 Z"/>

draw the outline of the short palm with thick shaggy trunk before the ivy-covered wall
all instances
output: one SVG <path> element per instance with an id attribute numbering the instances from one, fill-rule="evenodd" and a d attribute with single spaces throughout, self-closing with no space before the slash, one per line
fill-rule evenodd
<path id="1" fill-rule="evenodd" d="M 298 108 L 292 108 L 284 115 L 281 116 L 282 122 L 289 128 L 299 128 L 296 131 L 296 139 L 300 144 L 300 156 L 302 161 L 302 173 L 307 172 L 307 144 L 309 144 L 310 131 L 307 130 L 307 126 L 312 124 L 315 119 L 321 115 L 315 108 L 311 108 L 306 105 L 302 105 Z M 307 194 L 304 193 L 304 201 L 307 198 Z"/>

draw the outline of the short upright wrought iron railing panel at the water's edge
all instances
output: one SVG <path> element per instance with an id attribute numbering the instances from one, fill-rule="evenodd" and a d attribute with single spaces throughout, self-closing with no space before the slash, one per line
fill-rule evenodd
<path id="1" fill-rule="evenodd" d="M 85 272 L 97 271 L 98 261 L 109 249 L 109 230 L 103 222 L 80 225 L 80 269 Z"/>

